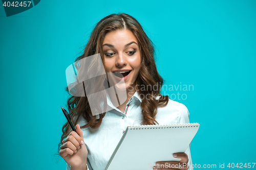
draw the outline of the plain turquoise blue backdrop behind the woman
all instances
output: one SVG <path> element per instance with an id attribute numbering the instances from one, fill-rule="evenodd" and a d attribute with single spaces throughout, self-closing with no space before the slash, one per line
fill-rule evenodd
<path id="1" fill-rule="evenodd" d="M 41 1 L 10 17 L 0 7 L 0 169 L 66 169 L 54 156 L 66 122 L 65 70 L 96 23 L 118 12 L 156 44 L 166 85 L 194 86 L 165 91 L 186 94 L 175 101 L 200 123 L 193 164 L 256 162 L 256 1 Z"/>

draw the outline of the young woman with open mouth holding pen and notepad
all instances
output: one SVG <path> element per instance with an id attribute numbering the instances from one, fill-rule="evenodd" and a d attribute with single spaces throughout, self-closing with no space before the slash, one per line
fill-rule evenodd
<path id="1" fill-rule="evenodd" d="M 70 96 L 67 103 L 76 132 L 66 123 L 59 143 L 59 155 L 67 162 L 67 169 L 104 169 L 127 126 L 189 123 L 187 108 L 160 94 L 163 79 L 154 61 L 153 42 L 135 18 L 120 13 L 101 19 L 76 61 L 98 53 L 105 72 L 114 72 L 113 79 L 122 72 L 127 99 L 114 105 L 116 96 L 108 95 L 108 107 L 113 110 L 93 115 L 87 96 Z M 176 169 L 188 169 L 179 163 L 192 164 L 190 146 L 185 153 L 173 156 L 181 160 L 152 164 L 156 163 L 158 170 L 172 169 L 164 166 L 166 162 Z"/>

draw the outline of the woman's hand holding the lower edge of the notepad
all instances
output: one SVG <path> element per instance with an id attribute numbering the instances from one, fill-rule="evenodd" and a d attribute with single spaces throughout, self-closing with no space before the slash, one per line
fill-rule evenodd
<path id="1" fill-rule="evenodd" d="M 156 162 L 156 166 L 153 166 L 153 169 L 157 170 L 167 170 L 167 169 L 188 169 L 188 157 L 185 153 L 174 153 L 173 157 L 180 158 L 181 160 L 178 161 L 158 161 Z"/>

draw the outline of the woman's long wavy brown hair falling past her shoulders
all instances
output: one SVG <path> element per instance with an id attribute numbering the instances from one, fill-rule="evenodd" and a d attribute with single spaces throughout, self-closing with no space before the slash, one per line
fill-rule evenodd
<path id="1" fill-rule="evenodd" d="M 143 121 L 141 122 L 141 125 L 156 125 L 157 121 L 155 120 L 155 116 L 157 114 L 157 108 L 166 106 L 168 104 L 169 98 L 167 95 L 165 96 L 160 94 L 160 89 L 163 85 L 163 79 L 158 74 L 156 68 L 154 43 L 150 40 L 150 38 L 147 37 L 140 23 L 134 17 L 125 13 L 119 13 L 111 14 L 101 19 L 93 29 L 89 41 L 84 48 L 83 54 L 77 57 L 75 61 L 79 61 L 85 57 L 100 53 L 104 63 L 104 53 L 102 51 L 103 39 L 106 33 L 118 29 L 130 30 L 138 40 L 138 45 L 141 52 L 141 67 L 136 80 L 136 89 L 138 89 L 137 91 L 140 96 L 147 95 L 147 99 L 144 98 L 141 102 L 141 114 L 143 115 Z M 157 86 L 157 90 L 154 88 L 144 88 L 145 90 L 139 90 L 142 87 L 148 86 Z M 66 87 L 66 91 L 69 93 L 68 87 Z M 156 98 L 156 96 L 159 96 L 159 98 Z M 150 100 L 148 100 L 148 98 L 150 98 Z M 72 123 L 74 125 L 77 125 L 79 118 L 86 120 L 87 124 L 81 128 L 99 128 L 102 122 L 102 118 L 106 113 L 104 112 L 97 116 L 93 115 L 87 96 L 79 97 L 71 95 L 68 98 L 67 107 Z M 60 150 L 59 147 L 62 140 L 65 139 L 71 131 L 72 129 L 69 126 L 69 123 L 66 122 L 62 127 L 63 134 L 61 135 L 60 143 L 58 145 L 58 152 Z"/>

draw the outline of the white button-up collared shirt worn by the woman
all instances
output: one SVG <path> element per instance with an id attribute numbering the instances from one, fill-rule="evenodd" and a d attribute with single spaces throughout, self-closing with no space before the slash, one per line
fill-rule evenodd
<path id="1" fill-rule="evenodd" d="M 125 111 L 122 113 L 118 108 L 114 107 L 107 95 L 108 107 L 112 107 L 113 110 L 106 112 L 98 129 L 81 129 L 84 143 L 88 150 L 87 166 L 90 170 L 103 170 L 126 127 L 140 125 L 143 120 L 141 114 L 141 101 L 142 100 L 136 91 L 129 102 L 126 103 Z M 188 124 L 189 112 L 185 105 L 169 99 L 169 102 L 165 107 L 157 109 L 155 119 L 159 125 Z M 84 126 L 86 125 L 86 120 L 79 119 L 78 123 L 80 127 Z M 192 165 L 190 144 L 185 153 L 188 155 L 188 164 Z M 70 169 L 69 164 L 67 164 L 67 169 Z M 189 169 L 193 168 L 189 167 Z"/>

